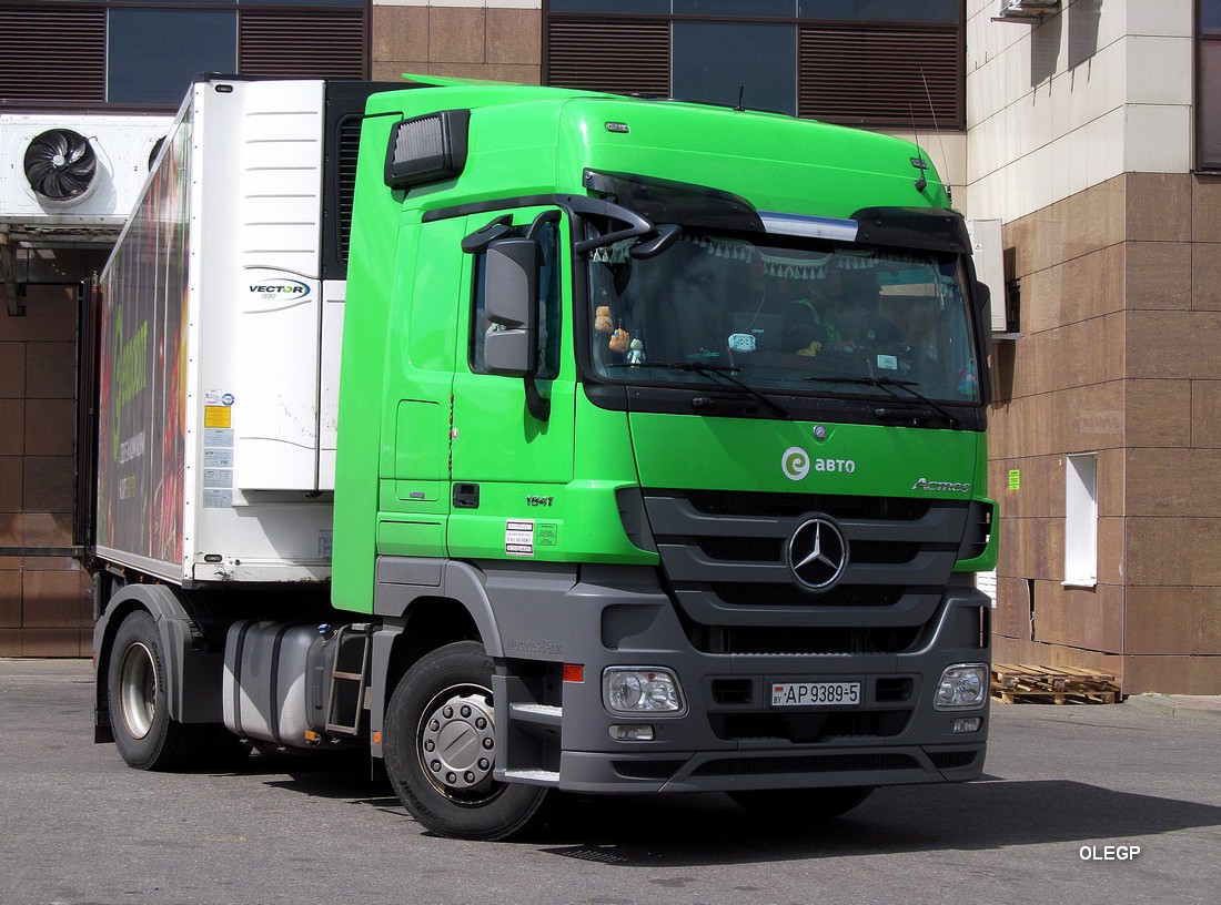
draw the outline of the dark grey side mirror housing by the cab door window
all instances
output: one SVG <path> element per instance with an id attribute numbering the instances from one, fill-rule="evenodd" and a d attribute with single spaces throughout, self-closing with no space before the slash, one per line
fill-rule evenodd
<path id="1" fill-rule="evenodd" d="M 526 377 L 538 367 L 538 243 L 496 239 L 484 266 L 484 316 L 492 328 L 484 339 L 484 366 L 491 374 Z"/>

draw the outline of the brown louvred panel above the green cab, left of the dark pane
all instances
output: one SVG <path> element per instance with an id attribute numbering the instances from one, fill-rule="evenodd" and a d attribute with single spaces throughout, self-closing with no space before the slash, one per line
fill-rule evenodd
<path id="1" fill-rule="evenodd" d="M 614 94 L 670 94 L 667 22 L 563 22 L 547 27 L 545 80 Z"/>

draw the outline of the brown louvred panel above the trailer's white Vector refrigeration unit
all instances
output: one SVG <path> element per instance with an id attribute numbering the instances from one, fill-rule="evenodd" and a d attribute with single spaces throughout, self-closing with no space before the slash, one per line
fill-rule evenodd
<path id="1" fill-rule="evenodd" d="M 243 76 L 365 77 L 360 11 L 242 11 L 238 72 Z"/>

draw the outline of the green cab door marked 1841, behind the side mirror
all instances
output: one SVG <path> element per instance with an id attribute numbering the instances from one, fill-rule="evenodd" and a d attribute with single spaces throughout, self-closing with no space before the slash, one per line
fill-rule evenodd
<path id="1" fill-rule="evenodd" d="M 538 243 L 537 393 L 547 411 L 527 402 L 529 378 L 487 373 L 484 346 L 486 249 L 468 254 L 466 304 L 459 312 L 454 356 L 449 555 L 470 559 L 563 559 L 565 489 L 573 481 L 575 377 L 570 304 L 570 224 L 554 209 L 530 207 L 469 218 L 468 234 L 499 221 L 496 233 Z M 503 227 L 503 228 L 502 228 Z M 531 411 L 534 410 L 534 411 Z"/>

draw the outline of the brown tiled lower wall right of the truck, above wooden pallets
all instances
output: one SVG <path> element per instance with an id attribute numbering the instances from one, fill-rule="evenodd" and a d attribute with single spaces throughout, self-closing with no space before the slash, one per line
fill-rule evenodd
<path id="1" fill-rule="evenodd" d="M 1006 229 L 1024 335 L 994 356 L 998 661 L 1221 693 L 1219 209 L 1216 181 L 1129 173 Z M 1095 588 L 1062 585 L 1072 452 L 1098 454 Z"/>

